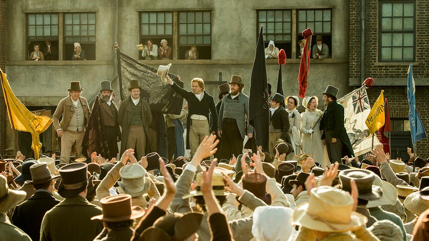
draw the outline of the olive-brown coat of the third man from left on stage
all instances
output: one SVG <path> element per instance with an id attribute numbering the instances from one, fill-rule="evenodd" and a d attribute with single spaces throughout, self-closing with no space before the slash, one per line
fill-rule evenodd
<path id="1" fill-rule="evenodd" d="M 144 131 L 146 132 L 146 135 L 149 133 L 149 125 L 152 123 L 152 113 L 150 112 L 149 104 L 146 100 L 143 100 L 143 98 L 140 98 L 141 101 L 141 120 L 143 121 L 143 127 Z M 122 127 L 122 136 L 121 136 L 121 144 L 120 144 L 120 153 L 119 155 L 122 155 L 122 153 L 125 151 L 126 147 L 126 141 L 128 140 L 128 133 L 129 133 L 129 123 L 131 122 L 132 118 L 132 107 L 131 107 L 132 100 L 131 96 L 124 99 L 119 106 L 119 111 L 117 114 L 117 123 Z M 149 144 L 150 140 L 146 143 Z M 149 145 L 146 145 L 146 149 L 149 147 Z"/>

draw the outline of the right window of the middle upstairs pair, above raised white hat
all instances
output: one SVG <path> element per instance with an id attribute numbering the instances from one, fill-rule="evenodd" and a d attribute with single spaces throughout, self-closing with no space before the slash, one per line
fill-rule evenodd
<path id="1" fill-rule="evenodd" d="M 210 11 L 179 12 L 179 59 L 197 46 L 199 59 L 212 58 L 212 14 Z"/>

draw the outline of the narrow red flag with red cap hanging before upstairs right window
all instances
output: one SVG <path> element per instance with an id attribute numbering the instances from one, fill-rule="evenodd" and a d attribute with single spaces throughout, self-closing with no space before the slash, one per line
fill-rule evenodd
<path id="1" fill-rule="evenodd" d="M 310 69 L 310 52 L 311 52 L 311 43 L 312 43 L 312 29 L 307 28 L 303 31 L 303 37 L 306 39 L 306 44 L 304 45 L 303 55 L 301 57 L 300 63 L 300 73 L 298 75 L 299 82 L 299 94 L 301 98 L 306 96 L 307 92 L 307 81 L 309 78 L 309 69 Z"/>

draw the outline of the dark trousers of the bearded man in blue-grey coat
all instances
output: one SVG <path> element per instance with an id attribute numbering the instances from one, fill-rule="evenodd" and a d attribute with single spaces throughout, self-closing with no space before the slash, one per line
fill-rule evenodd
<path id="1" fill-rule="evenodd" d="M 244 139 L 241 137 L 240 130 L 235 120 L 224 118 L 222 124 L 220 158 L 229 160 L 232 158 L 232 155 L 238 157 L 238 155 L 243 154 L 243 141 Z"/>

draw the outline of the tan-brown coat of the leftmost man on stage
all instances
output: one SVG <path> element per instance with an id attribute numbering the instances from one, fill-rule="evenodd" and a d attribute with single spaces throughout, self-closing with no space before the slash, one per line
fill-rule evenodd
<path id="1" fill-rule="evenodd" d="M 85 114 L 85 126 L 87 126 L 91 115 L 91 111 L 88 107 L 88 101 L 84 97 L 79 97 L 79 100 L 81 101 L 82 109 L 84 110 Z M 75 108 L 73 108 L 72 97 L 70 95 L 60 100 L 55 113 L 52 115 L 55 131 L 58 129 L 66 131 L 74 113 Z M 63 115 L 63 119 L 60 123 L 59 119 L 61 115 Z"/>

